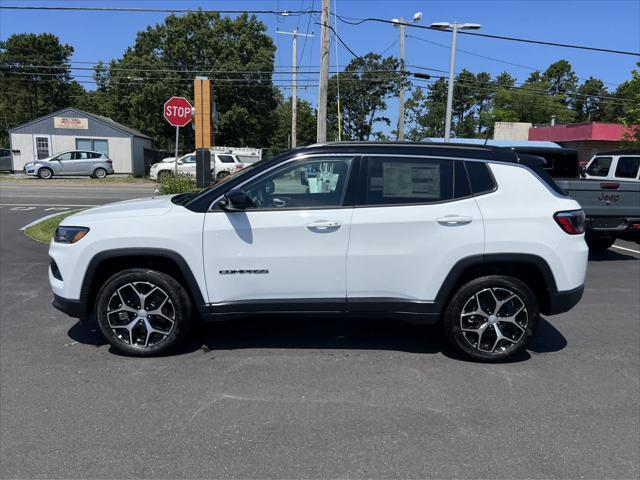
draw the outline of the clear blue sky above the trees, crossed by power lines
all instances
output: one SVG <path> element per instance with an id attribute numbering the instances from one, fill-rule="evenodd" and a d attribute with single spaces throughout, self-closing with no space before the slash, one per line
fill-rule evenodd
<path id="1" fill-rule="evenodd" d="M 134 6 L 158 8 L 207 9 L 319 9 L 320 0 L 236 0 L 236 1 L 162 1 L 162 0 L 0 0 L 2 5 L 65 5 L 65 6 Z M 435 21 L 475 22 L 482 24 L 483 33 L 525 37 L 537 40 L 574 43 L 596 47 L 640 51 L 640 0 L 333 0 L 339 15 L 348 17 L 411 18 L 422 12 L 421 25 Z M 136 32 L 149 24 L 162 22 L 161 13 L 110 12 L 42 12 L 0 11 L 0 38 L 13 33 L 51 32 L 63 42 L 73 45 L 76 61 L 108 61 L 118 58 L 135 40 Z M 276 35 L 276 29 L 291 31 L 298 27 L 307 31 L 307 17 L 276 17 L 261 15 L 278 47 L 276 67 L 291 65 L 291 37 Z M 301 67 L 319 64 L 319 26 L 311 20 L 309 30 L 314 38 L 307 39 Z M 351 26 L 338 22 L 338 33 L 357 54 L 385 52 L 398 54 L 398 30 L 391 25 L 365 23 Z M 407 29 L 407 64 L 448 70 L 450 34 L 429 30 Z M 416 38 L 420 37 L 425 41 Z M 394 42 L 396 42 L 394 44 Z M 436 42 L 443 46 L 435 45 Z M 299 54 L 304 40 L 299 40 Z M 638 57 L 580 51 L 566 48 L 527 45 L 522 43 L 460 36 L 456 70 L 467 68 L 473 72 L 492 74 L 508 71 L 518 80 L 526 79 L 532 68 L 544 69 L 550 63 L 567 59 L 577 75 L 598 77 L 610 89 L 630 78 Z M 489 60 L 462 52 L 492 57 Z M 352 58 L 341 46 L 337 64 L 344 65 Z M 501 63 L 497 60 L 501 60 Z M 336 64 L 335 47 L 331 48 L 331 65 Z M 519 64 L 515 66 L 510 64 Z M 333 69 L 332 69 L 333 70 Z M 86 73 L 86 72 L 85 72 Z M 317 76 L 315 77 L 317 78 Z M 315 103 L 317 89 L 301 89 L 299 95 Z M 390 105 L 393 107 L 393 105 Z"/>

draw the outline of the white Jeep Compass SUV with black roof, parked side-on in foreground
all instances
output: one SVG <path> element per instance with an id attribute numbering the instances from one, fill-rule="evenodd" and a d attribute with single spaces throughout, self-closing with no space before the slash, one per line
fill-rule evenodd
<path id="1" fill-rule="evenodd" d="M 584 214 L 543 164 L 454 144 L 291 150 L 197 194 L 65 218 L 53 305 L 130 355 L 196 320 L 321 313 L 441 322 L 459 351 L 502 359 L 583 292 Z"/>

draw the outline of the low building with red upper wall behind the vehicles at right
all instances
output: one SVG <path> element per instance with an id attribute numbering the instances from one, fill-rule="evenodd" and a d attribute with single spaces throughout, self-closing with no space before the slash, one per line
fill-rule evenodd
<path id="1" fill-rule="evenodd" d="M 640 128 L 640 125 L 631 129 Z M 556 142 L 566 148 L 578 150 L 581 163 L 587 162 L 595 153 L 603 150 L 624 148 L 625 127 L 621 123 L 568 123 L 531 127 L 529 140 Z"/>

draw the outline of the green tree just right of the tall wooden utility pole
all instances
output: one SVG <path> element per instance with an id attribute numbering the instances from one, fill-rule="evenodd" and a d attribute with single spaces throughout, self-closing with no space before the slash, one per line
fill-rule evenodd
<path id="1" fill-rule="evenodd" d="M 398 60 L 368 53 L 354 58 L 342 72 L 333 75 L 328 88 L 328 138 L 338 138 L 338 81 L 340 83 L 340 119 L 343 140 L 368 140 L 374 126 L 391 121 L 383 115 L 387 99 L 397 94 Z"/>

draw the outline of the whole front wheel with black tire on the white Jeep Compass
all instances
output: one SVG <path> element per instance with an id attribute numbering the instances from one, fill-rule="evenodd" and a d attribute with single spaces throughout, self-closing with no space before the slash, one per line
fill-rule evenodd
<path id="1" fill-rule="evenodd" d="M 142 306 L 147 310 L 139 308 L 140 293 L 145 291 Z M 166 301 L 162 301 L 164 295 Z M 170 352 L 184 341 L 192 325 L 185 289 L 169 275 L 145 268 L 123 270 L 109 278 L 96 298 L 96 317 L 113 348 L 137 357 Z"/>

